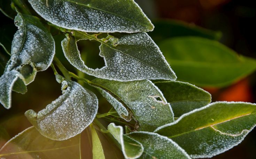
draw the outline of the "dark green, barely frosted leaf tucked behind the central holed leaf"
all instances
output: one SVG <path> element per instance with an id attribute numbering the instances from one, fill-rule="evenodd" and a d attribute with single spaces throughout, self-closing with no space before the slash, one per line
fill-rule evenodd
<path id="1" fill-rule="evenodd" d="M 195 85 L 180 81 L 155 82 L 154 84 L 171 104 L 175 117 L 211 103 L 211 94 Z"/>

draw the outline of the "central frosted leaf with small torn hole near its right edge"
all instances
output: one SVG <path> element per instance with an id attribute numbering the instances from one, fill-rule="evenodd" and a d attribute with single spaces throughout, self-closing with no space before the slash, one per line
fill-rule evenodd
<path id="1" fill-rule="evenodd" d="M 122 113 L 126 115 L 125 108 L 132 112 L 141 131 L 154 131 L 174 121 L 170 104 L 149 80 L 119 82 L 96 78 L 93 82 L 121 117 Z"/>

